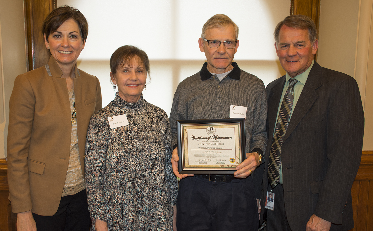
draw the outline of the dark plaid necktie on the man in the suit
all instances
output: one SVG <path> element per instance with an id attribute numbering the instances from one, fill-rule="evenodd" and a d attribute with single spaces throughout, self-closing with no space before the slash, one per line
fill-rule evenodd
<path id="1" fill-rule="evenodd" d="M 289 79 L 289 87 L 283 97 L 279 117 L 276 123 L 275 134 L 273 135 L 268 160 L 268 180 L 272 188 L 280 182 L 282 137 L 285 135 L 286 129 L 288 129 L 291 108 L 293 107 L 294 101 L 294 85 L 297 82 L 297 79 Z"/>

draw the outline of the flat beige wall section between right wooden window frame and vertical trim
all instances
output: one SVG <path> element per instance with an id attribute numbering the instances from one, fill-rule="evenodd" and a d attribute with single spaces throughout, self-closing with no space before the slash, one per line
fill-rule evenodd
<path id="1" fill-rule="evenodd" d="M 317 62 L 354 76 L 358 0 L 321 1 Z"/>

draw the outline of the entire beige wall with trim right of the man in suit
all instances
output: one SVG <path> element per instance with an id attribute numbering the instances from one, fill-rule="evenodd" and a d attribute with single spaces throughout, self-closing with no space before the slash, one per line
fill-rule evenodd
<path id="1" fill-rule="evenodd" d="M 372 3 L 327 0 L 320 6 L 317 61 L 356 79 L 365 114 L 363 150 L 373 150 L 373 92 L 369 91 L 373 87 Z"/>

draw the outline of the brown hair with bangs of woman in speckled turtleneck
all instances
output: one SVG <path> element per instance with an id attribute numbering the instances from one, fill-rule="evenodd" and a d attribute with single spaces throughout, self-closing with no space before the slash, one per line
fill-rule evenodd
<path id="1" fill-rule="evenodd" d="M 114 51 L 112 57 L 110 57 L 110 71 L 113 75 L 115 75 L 117 69 L 121 68 L 126 63 L 131 63 L 131 60 L 136 57 L 140 59 L 145 67 L 145 71 L 149 75 L 150 63 L 148 55 L 140 48 L 131 45 L 119 47 L 118 49 L 116 49 L 116 51 Z"/>

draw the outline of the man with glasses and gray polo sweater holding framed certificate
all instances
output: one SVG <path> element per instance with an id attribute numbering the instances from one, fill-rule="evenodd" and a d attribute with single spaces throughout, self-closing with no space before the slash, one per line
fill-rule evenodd
<path id="1" fill-rule="evenodd" d="M 178 231 L 258 230 L 258 210 L 250 174 L 265 151 L 267 103 L 263 82 L 232 62 L 239 41 L 238 26 L 226 15 L 214 15 L 203 26 L 198 43 L 207 62 L 182 81 L 170 114 L 172 167 L 182 180 L 177 207 Z M 176 121 L 245 118 L 247 159 L 233 175 L 187 175 L 178 172 Z"/>

